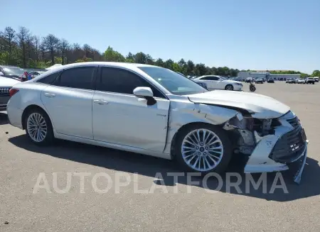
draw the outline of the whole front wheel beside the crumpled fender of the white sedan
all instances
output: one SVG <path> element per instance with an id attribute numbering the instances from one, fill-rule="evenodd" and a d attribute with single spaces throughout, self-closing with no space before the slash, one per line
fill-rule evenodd
<path id="1" fill-rule="evenodd" d="M 201 172 L 202 175 L 224 172 L 232 156 L 225 131 L 210 125 L 184 128 L 178 135 L 175 153 L 183 170 Z"/>

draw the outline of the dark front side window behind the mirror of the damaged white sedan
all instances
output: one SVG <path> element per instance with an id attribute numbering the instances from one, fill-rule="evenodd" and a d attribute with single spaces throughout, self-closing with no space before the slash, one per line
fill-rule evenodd
<path id="1" fill-rule="evenodd" d="M 102 67 L 101 79 L 98 79 L 97 90 L 119 94 L 133 94 L 137 87 L 150 87 L 154 96 L 164 98 L 158 89 L 133 72 L 115 67 Z"/>

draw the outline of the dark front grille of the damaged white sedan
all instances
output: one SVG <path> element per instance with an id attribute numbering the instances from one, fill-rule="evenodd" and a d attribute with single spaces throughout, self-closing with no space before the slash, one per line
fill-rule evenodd
<path id="1" fill-rule="evenodd" d="M 292 162 L 299 158 L 306 145 L 306 134 L 301 126 L 285 133 L 274 145 L 269 157 L 276 162 Z"/>

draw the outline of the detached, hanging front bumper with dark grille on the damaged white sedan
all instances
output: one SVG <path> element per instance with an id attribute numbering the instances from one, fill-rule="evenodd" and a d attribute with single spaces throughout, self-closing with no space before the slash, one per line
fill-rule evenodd
<path id="1" fill-rule="evenodd" d="M 274 128 L 274 134 L 260 137 L 255 132 L 257 145 L 245 165 L 245 173 L 279 172 L 298 166 L 294 182 L 299 183 L 307 156 L 304 128 L 290 111 L 278 118 L 282 126 Z M 292 164 L 299 165 L 292 165 Z"/>

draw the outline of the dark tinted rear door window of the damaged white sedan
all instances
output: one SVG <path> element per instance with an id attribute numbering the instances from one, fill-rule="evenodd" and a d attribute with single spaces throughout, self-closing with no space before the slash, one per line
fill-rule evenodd
<path id="1" fill-rule="evenodd" d="M 92 89 L 92 77 L 95 67 L 74 67 L 63 70 L 54 85 L 76 89 Z"/>

